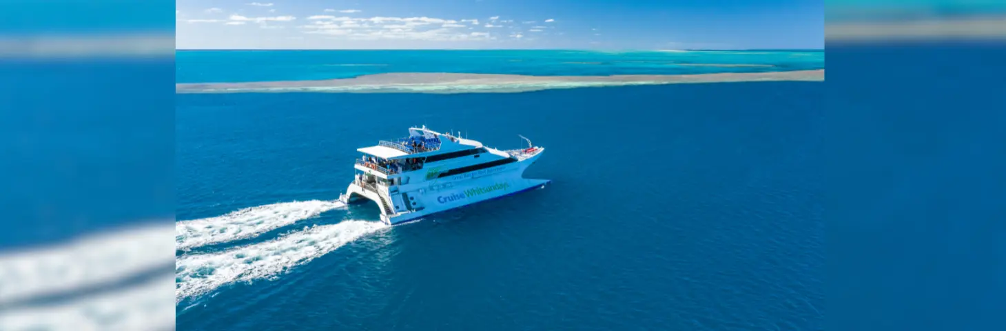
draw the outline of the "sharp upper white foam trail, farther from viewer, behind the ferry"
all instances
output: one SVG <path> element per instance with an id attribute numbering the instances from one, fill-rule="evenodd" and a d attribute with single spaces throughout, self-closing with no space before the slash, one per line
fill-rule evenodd
<path id="1" fill-rule="evenodd" d="M 294 201 L 261 205 L 225 215 L 175 223 L 175 247 L 187 250 L 209 243 L 242 239 L 345 207 L 340 201 Z"/>

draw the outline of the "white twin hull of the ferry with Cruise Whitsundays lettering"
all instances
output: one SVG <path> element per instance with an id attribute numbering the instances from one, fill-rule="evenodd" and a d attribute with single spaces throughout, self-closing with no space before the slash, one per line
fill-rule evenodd
<path id="1" fill-rule="evenodd" d="M 377 203 L 381 209 L 381 220 L 388 224 L 414 220 L 423 216 L 489 200 L 521 191 L 544 187 L 548 180 L 528 179 L 521 177 L 524 170 L 533 163 L 538 155 L 469 173 L 441 177 L 425 178 L 427 174 L 436 177 L 439 169 L 421 169 L 414 171 L 409 184 L 396 185 L 390 188 L 377 185 L 380 192 L 364 189 L 355 183 L 350 184 L 347 191 L 349 201 L 365 197 Z M 420 178 L 414 178 L 420 177 Z M 392 213 L 386 212 L 381 206 L 381 200 L 388 202 Z"/>

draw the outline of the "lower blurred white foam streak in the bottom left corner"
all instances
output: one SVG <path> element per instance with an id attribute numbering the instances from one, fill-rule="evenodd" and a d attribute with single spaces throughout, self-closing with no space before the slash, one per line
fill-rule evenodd
<path id="1" fill-rule="evenodd" d="M 171 275 L 59 304 L 0 311 L 0 330 L 173 330 Z"/>

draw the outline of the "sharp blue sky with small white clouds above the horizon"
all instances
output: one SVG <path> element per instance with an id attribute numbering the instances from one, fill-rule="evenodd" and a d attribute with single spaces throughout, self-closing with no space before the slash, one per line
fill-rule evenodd
<path id="1" fill-rule="evenodd" d="M 177 0 L 178 49 L 824 48 L 821 0 Z"/>

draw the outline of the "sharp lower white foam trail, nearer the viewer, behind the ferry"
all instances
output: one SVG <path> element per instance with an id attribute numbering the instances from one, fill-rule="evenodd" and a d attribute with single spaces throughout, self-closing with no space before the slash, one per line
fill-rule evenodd
<path id="1" fill-rule="evenodd" d="M 388 228 L 376 221 L 344 220 L 226 252 L 182 256 L 175 261 L 175 300 L 205 294 L 222 285 L 273 277 L 367 233 Z"/>

